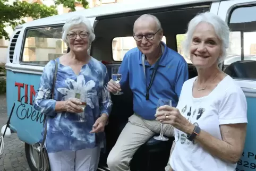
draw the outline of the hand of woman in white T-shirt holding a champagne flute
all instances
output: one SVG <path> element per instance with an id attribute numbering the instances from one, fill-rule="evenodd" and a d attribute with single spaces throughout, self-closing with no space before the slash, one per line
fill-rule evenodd
<path id="1" fill-rule="evenodd" d="M 157 121 L 161 123 L 173 125 L 176 129 L 191 134 L 194 125 L 191 124 L 187 119 L 181 115 L 180 110 L 172 106 L 161 106 L 158 108 L 158 112 L 155 115 Z"/>

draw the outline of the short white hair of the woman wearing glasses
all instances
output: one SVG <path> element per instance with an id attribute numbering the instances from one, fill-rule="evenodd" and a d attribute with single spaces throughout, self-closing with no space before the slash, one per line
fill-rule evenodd
<path id="1" fill-rule="evenodd" d="M 69 41 L 67 40 L 67 32 L 70 31 L 70 28 L 74 25 L 84 24 L 86 25 L 87 31 L 89 32 L 89 42 L 91 42 L 95 39 L 94 30 L 91 26 L 90 21 L 81 15 L 73 16 L 71 19 L 67 20 L 62 28 L 62 39 L 63 41 L 69 46 Z"/>

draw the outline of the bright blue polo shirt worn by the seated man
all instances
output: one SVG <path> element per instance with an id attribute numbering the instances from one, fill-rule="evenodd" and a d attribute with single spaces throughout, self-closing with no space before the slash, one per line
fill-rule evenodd
<path id="1" fill-rule="evenodd" d="M 155 64 L 151 66 L 147 60 L 145 61 L 147 87 L 142 66 L 142 53 L 137 47 L 125 54 L 119 69 L 119 73 L 122 74 L 121 89 L 129 86 L 133 92 L 134 113 L 148 120 L 156 119 L 156 108 L 160 98 L 170 99 L 172 106 L 177 106 L 183 83 L 189 76 L 185 59 L 168 48 L 164 42 L 161 44 L 165 49 L 149 90 L 149 100 L 146 100 L 146 92 Z"/>

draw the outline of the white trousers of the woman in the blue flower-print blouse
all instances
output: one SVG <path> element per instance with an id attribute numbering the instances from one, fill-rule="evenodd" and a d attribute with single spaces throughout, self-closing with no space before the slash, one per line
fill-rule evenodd
<path id="1" fill-rule="evenodd" d="M 48 153 L 52 171 L 96 171 L 100 148 Z"/>

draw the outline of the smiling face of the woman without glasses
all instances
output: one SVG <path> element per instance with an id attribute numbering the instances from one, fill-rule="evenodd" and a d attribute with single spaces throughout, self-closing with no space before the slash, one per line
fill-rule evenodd
<path id="1" fill-rule="evenodd" d="M 190 58 L 197 68 L 209 68 L 217 65 L 221 56 L 221 41 L 214 27 L 201 22 L 195 28 L 190 46 Z"/>

